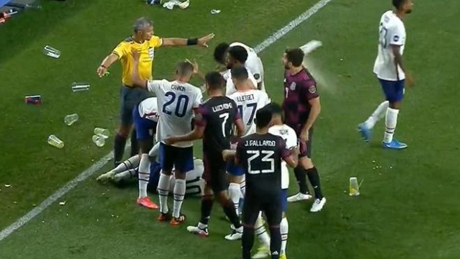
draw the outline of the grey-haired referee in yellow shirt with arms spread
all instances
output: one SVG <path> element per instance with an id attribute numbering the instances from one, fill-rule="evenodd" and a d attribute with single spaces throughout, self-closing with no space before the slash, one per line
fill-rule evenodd
<path id="1" fill-rule="evenodd" d="M 152 79 L 153 57 L 155 49 L 162 46 L 187 46 L 199 45 L 208 47 L 209 40 L 214 38 L 214 34 L 208 34 L 203 38 L 160 38 L 153 36 L 153 22 L 151 19 L 141 17 L 134 24 L 134 33 L 132 36 L 120 42 L 100 64 L 97 72 L 99 77 L 103 77 L 107 69 L 117 61 L 121 60 L 123 70 L 122 82 L 120 91 L 120 113 L 121 123 L 118 127 L 118 132 L 115 136 L 114 143 L 114 162 L 115 165 L 123 161 L 123 151 L 125 150 L 126 139 L 132 131 L 132 109 L 141 100 L 148 97 L 148 92 L 141 88 L 135 88 L 132 85 L 132 68 L 134 60 L 132 58 L 132 50 L 140 53 L 139 58 L 139 76 L 142 80 Z M 131 155 L 139 152 L 137 145 L 136 131 L 131 134 Z"/>

